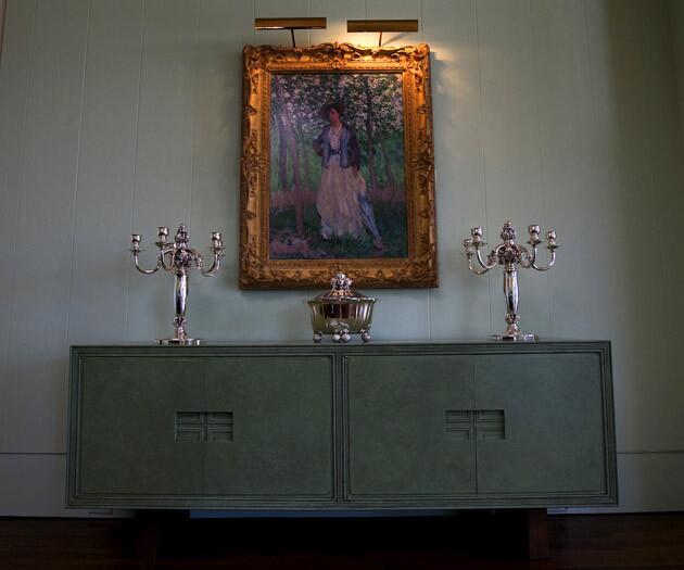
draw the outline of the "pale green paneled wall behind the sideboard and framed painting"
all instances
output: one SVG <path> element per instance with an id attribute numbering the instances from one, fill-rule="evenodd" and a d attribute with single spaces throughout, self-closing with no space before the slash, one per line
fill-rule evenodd
<path id="1" fill-rule="evenodd" d="M 684 508 L 684 212 L 671 3 L 290 0 L 327 16 L 300 43 L 371 43 L 345 18 L 420 18 L 431 46 L 439 289 L 377 291 L 380 340 L 503 327 L 501 276 L 461 240 L 505 219 L 554 226 L 548 274 L 521 277 L 525 330 L 610 339 L 622 510 Z M 674 10 L 673 10 L 674 12 Z M 276 0 L 9 0 L 0 67 L 0 516 L 64 515 L 67 353 L 170 329 L 172 281 L 136 274 L 129 235 L 227 236 L 193 279 L 214 340 L 307 340 L 313 292 L 237 288 L 241 48 Z M 682 18 L 679 17 L 679 22 Z M 680 49 L 681 55 L 681 49 Z M 559 410 L 558 413 L 562 413 Z M 71 512 L 71 515 L 83 515 Z"/>

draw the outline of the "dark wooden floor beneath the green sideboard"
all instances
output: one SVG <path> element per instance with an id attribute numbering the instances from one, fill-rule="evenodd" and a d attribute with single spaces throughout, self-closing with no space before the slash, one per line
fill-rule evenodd
<path id="1" fill-rule="evenodd" d="M 0 518 L 0 570 L 235 568 L 684 569 L 684 514 L 549 517 L 550 557 L 525 561 L 491 512 L 440 518 L 212 519 L 169 523 L 156 562 L 130 521 Z"/>

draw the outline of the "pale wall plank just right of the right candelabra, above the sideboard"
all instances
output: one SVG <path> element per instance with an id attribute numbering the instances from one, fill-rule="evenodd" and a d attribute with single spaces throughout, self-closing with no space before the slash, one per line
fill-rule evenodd
<path id="1" fill-rule="evenodd" d="M 601 224 L 592 186 L 595 121 L 591 62 L 583 2 L 531 4 L 539 99 L 540 169 L 546 220 L 560 235 L 558 263 L 548 273 L 548 303 L 554 335 L 599 338 L 595 316 L 601 300 L 594 276 L 604 270 Z M 542 262 L 546 250 L 541 250 Z"/>

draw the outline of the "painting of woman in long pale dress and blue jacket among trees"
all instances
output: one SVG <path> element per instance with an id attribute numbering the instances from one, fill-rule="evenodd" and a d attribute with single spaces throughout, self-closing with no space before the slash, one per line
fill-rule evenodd
<path id="1" fill-rule="evenodd" d="M 274 74 L 269 256 L 407 255 L 402 76 Z"/>

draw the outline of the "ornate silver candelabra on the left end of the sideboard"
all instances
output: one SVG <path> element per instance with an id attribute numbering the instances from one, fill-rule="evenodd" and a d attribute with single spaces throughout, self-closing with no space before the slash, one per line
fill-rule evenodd
<path id="1" fill-rule="evenodd" d="M 174 243 L 168 241 L 168 228 L 160 226 L 157 241 L 154 244 L 160 249 L 160 253 L 156 256 L 156 265 L 154 269 L 142 269 L 138 264 L 138 254 L 143 251 L 140 249 L 140 233 L 132 233 L 130 239 L 130 251 L 134 254 L 134 261 L 136 262 L 136 269 L 141 274 L 150 275 L 155 274 L 160 269 L 164 269 L 174 274 L 175 288 L 174 288 L 174 302 L 176 306 L 176 317 L 174 318 L 174 328 L 176 329 L 173 339 L 162 339 L 160 344 L 200 344 L 199 339 L 191 339 L 188 337 L 186 328 L 186 306 L 188 302 L 188 273 L 194 265 L 202 275 L 206 277 L 213 277 L 220 267 L 220 258 L 224 256 L 224 242 L 220 237 L 220 231 L 212 232 L 212 244 L 210 245 L 210 252 L 214 256 L 212 266 L 205 271 L 203 267 L 202 255 L 197 251 L 188 246 L 188 228 L 183 225 L 178 226 L 176 230 L 176 238 Z"/>

